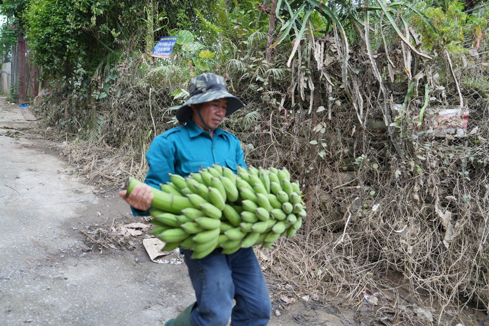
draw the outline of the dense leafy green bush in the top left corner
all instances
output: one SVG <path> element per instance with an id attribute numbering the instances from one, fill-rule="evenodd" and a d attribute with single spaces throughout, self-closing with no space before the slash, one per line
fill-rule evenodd
<path id="1" fill-rule="evenodd" d="M 22 17 L 34 63 L 52 78 L 69 76 L 76 65 L 93 71 L 120 48 L 138 10 L 130 1 L 32 0 Z"/>

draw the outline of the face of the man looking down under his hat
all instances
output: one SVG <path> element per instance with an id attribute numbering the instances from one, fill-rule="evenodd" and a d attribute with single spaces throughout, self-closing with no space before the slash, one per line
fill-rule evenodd
<path id="1" fill-rule="evenodd" d="M 196 125 L 201 127 L 203 130 L 207 130 L 207 127 L 209 127 L 210 130 L 215 130 L 217 127 L 219 127 L 224 117 L 226 116 L 227 107 L 228 107 L 227 98 L 220 98 L 217 100 L 192 105 L 192 111 L 193 111 L 192 120 L 195 122 Z M 200 111 L 202 120 L 204 120 L 205 125 L 207 125 L 207 127 L 202 123 L 202 120 L 200 119 L 197 110 Z"/>

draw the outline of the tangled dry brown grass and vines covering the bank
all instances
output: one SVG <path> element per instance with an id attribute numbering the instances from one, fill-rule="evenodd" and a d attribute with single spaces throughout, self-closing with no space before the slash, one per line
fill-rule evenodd
<path id="1" fill-rule="evenodd" d="M 280 66 L 284 58 L 277 60 Z M 313 74 L 318 72 L 307 48 L 302 60 L 309 62 Z M 378 60 L 380 65 L 381 55 Z M 315 92 L 297 90 L 305 80 L 297 63 L 277 78 L 270 74 L 270 86 L 261 91 L 253 75 L 243 76 L 239 66 L 228 65 L 232 91 L 248 105 L 223 128 L 241 140 L 249 165 L 286 167 L 300 181 L 308 206 L 302 234 L 258 251 L 265 273 L 278 283 L 293 283 L 297 296 L 316 293 L 324 301 L 334 297 L 354 307 L 364 304 L 363 291 L 381 292 L 386 302 L 375 311 L 379 320 L 389 317 L 384 324 L 431 323 L 416 312 L 420 306 L 431 309 L 434 324 L 450 323 L 456 314 L 448 312 L 464 307 L 485 311 L 488 102 L 478 98 L 475 89 L 462 86 L 464 96 L 474 100 L 467 134 L 434 137 L 429 130 L 438 111 L 457 102 L 449 76 L 439 80 L 443 89 L 430 85 L 430 97 L 436 100 L 417 129 L 424 85 L 406 96 L 409 83 L 401 77 L 384 84 L 389 96 L 383 96 L 366 62 L 361 51 L 350 59 L 349 87 L 357 107 L 341 87 L 340 60 L 324 68 L 334 87 L 322 79 L 315 83 Z M 422 67 L 426 79 L 432 83 L 430 73 L 446 71 L 445 65 L 441 59 Z M 169 73 L 176 69 L 172 66 L 149 69 L 141 76 L 126 73 L 131 70 L 128 63 L 120 69 L 110 99 L 92 102 L 85 115 L 73 98 L 53 97 L 39 106 L 47 122 L 76 122 L 70 124 L 73 129 L 64 129 L 73 142 L 63 155 L 90 182 L 103 185 L 120 185 L 127 175 L 144 177 L 144 153 L 155 134 L 173 126 L 174 112 L 168 108 L 180 103 L 168 94 L 185 89 L 188 79 L 185 69 Z M 464 78 L 473 72 L 457 73 Z M 155 80 L 165 80 L 164 86 L 153 86 L 158 85 Z M 311 98 L 314 110 L 309 112 Z M 393 104 L 404 101 L 404 111 L 393 110 Z M 324 111 L 316 112 L 319 106 Z M 60 116 L 60 107 L 71 112 Z M 384 122 L 386 108 L 400 127 L 391 133 Z M 92 131 L 78 132 L 74 126 L 80 125 Z M 392 275 L 401 275 L 402 285 L 389 280 Z M 409 309 L 399 308 L 401 290 L 410 295 Z"/>

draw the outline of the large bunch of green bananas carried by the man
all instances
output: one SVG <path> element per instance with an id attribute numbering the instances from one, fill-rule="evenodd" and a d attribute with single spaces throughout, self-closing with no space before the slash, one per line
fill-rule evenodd
<path id="1" fill-rule="evenodd" d="M 164 250 L 193 250 L 203 258 L 216 248 L 232 254 L 240 248 L 270 247 L 280 236 L 292 237 L 306 218 L 297 182 L 286 169 L 213 165 L 153 188 L 151 233 L 166 242 Z M 142 183 L 129 177 L 130 194 Z"/>

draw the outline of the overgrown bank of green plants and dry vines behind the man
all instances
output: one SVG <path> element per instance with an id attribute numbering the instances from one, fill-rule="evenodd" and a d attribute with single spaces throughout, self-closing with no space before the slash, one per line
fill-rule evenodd
<path id="1" fill-rule="evenodd" d="M 268 276 L 350 304 L 362 291 L 408 291 L 412 308 L 376 311 L 413 324 L 422 295 L 433 323 L 489 305 L 488 13 L 478 6 L 32 1 L 15 17 L 51 82 L 36 107 L 90 180 L 142 178 L 188 80 L 220 73 L 248 103 L 223 126 L 248 164 L 286 167 L 306 194 L 303 234 L 266 253 Z M 149 57 L 166 35 L 179 36 L 172 58 Z"/>

